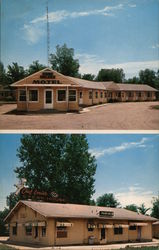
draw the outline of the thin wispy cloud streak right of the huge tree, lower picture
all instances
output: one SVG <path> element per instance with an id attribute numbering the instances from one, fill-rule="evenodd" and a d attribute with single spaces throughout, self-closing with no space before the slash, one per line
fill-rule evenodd
<path id="1" fill-rule="evenodd" d="M 104 149 L 90 149 L 90 153 L 96 158 L 100 158 L 104 155 L 112 155 L 132 148 L 145 148 L 145 142 L 147 140 L 148 138 L 143 137 L 139 142 L 123 142 L 121 145 L 115 147 L 109 147 Z"/>

